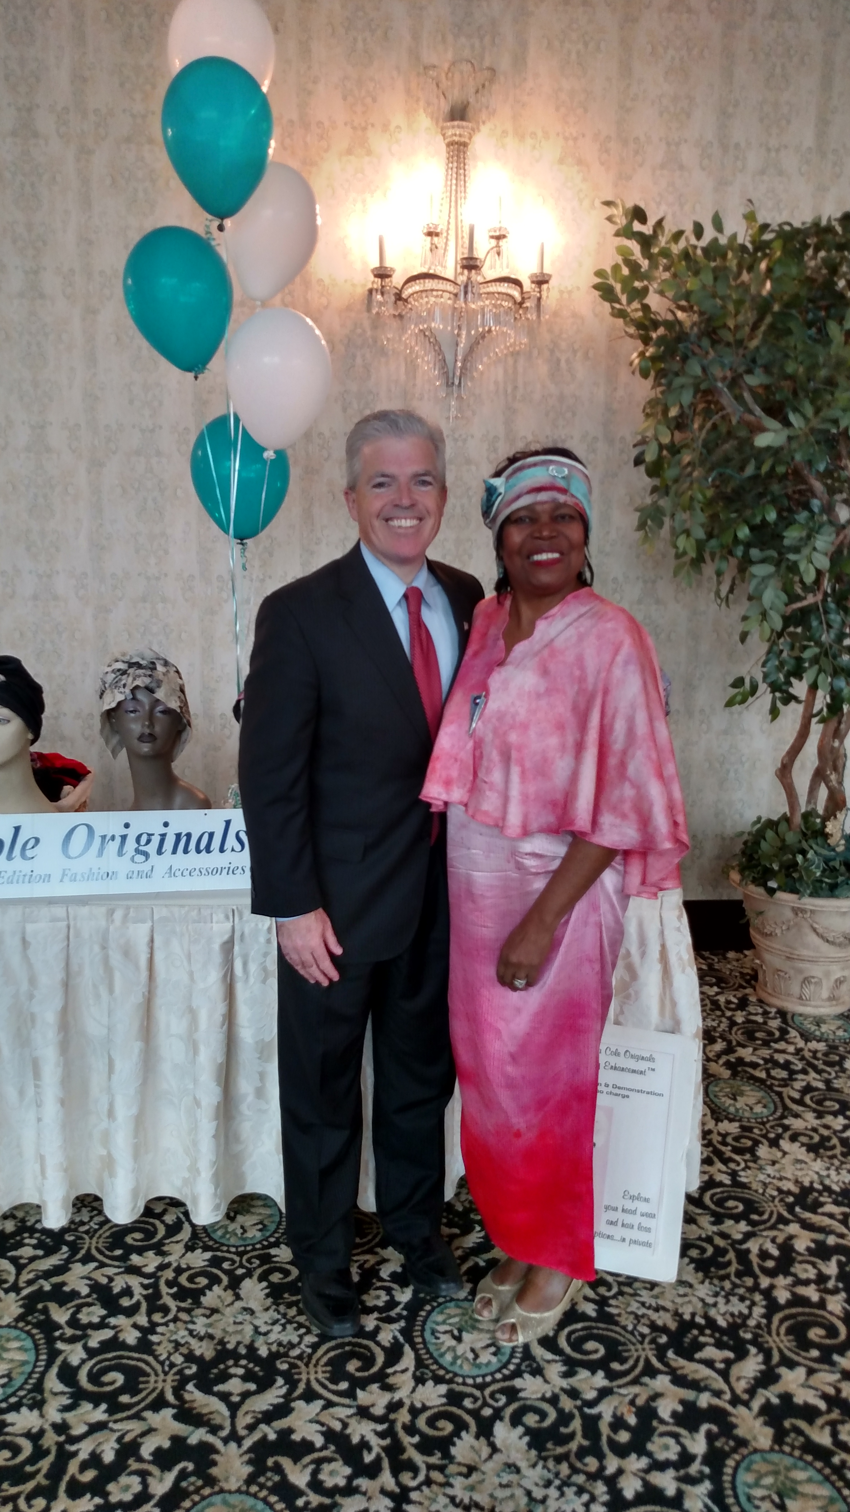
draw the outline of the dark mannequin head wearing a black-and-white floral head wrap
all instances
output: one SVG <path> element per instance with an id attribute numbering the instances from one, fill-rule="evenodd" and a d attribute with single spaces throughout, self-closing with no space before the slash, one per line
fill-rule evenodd
<path id="1" fill-rule="evenodd" d="M 210 809 L 174 762 L 192 735 L 180 668 L 159 652 L 113 656 L 100 677 L 100 733 L 116 759 L 127 751 L 133 809 Z"/>

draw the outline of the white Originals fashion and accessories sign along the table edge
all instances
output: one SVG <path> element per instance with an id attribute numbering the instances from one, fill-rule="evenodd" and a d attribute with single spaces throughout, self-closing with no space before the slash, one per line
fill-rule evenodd
<path id="1" fill-rule="evenodd" d="M 0 901 L 233 892 L 250 871 L 242 809 L 0 815 Z"/>

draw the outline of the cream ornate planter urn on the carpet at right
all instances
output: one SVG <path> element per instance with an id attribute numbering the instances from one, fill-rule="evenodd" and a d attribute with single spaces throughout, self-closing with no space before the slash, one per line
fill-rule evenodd
<path id="1" fill-rule="evenodd" d="M 786 1013 L 826 1018 L 850 1009 L 850 898 L 741 889 L 756 953 L 756 996 Z"/>

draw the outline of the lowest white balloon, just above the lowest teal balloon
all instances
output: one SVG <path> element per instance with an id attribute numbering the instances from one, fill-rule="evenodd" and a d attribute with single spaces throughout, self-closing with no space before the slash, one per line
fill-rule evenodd
<path id="1" fill-rule="evenodd" d="M 233 408 L 260 446 L 290 446 L 316 420 L 331 386 L 322 333 L 296 310 L 250 314 L 227 352 Z"/>

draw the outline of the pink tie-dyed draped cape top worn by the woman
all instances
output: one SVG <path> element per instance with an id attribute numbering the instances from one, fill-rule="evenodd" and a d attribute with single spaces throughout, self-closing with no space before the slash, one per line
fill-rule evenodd
<path id="1" fill-rule="evenodd" d="M 475 611 L 422 798 L 434 810 L 457 803 L 511 839 L 570 832 L 622 851 L 629 895 L 678 888 L 688 832 L 649 635 L 579 588 L 505 661 L 508 605 L 490 597 Z"/>

